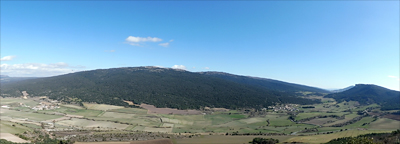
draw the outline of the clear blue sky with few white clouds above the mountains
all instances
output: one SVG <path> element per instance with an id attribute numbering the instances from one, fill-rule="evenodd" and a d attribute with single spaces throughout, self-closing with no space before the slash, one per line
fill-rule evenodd
<path id="1" fill-rule="evenodd" d="M 221 71 L 399 90 L 399 1 L 1 1 L 1 74 Z"/>

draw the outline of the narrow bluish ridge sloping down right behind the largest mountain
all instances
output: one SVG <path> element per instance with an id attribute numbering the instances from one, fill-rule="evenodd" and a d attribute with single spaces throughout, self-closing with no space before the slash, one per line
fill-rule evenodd
<path id="1" fill-rule="evenodd" d="M 273 79 L 266 78 L 258 78 L 258 77 L 250 77 L 250 76 L 240 76 L 233 75 L 229 73 L 223 72 L 200 72 L 200 74 L 222 78 L 224 80 L 246 84 L 251 86 L 257 86 L 268 90 L 276 90 L 276 91 L 284 91 L 284 92 L 298 92 L 298 91 L 309 91 L 309 92 L 317 92 L 317 93 L 330 93 L 328 90 L 310 87 L 300 84 L 288 83 Z"/>

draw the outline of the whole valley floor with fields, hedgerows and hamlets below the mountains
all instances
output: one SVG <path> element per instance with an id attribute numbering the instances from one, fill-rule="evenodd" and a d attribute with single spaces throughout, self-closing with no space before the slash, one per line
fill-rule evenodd
<path id="1" fill-rule="evenodd" d="M 400 129 L 398 115 L 380 111 L 377 105 L 313 98 L 320 98 L 324 103 L 313 105 L 314 108 L 280 105 L 269 110 L 208 109 L 192 115 L 89 103 L 84 106 L 46 103 L 54 107 L 35 110 L 33 107 L 43 105 L 43 99 L 1 98 L 0 132 L 29 136 L 42 131 L 53 138 L 80 143 L 168 137 L 176 144 L 242 144 L 255 137 L 324 143 L 339 137 Z M 73 136 L 77 134 L 79 137 Z"/>

